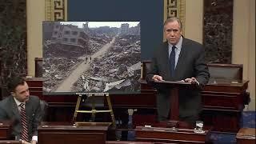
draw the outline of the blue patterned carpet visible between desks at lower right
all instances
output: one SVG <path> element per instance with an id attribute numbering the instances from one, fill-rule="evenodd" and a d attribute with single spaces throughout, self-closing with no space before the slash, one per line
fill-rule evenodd
<path id="1" fill-rule="evenodd" d="M 256 111 L 245 111 L 242 113 L 242 127 L 255 128 Z M 236 134 L 212 133 L 210 139 L 214 144 L 235 144 Z"/>

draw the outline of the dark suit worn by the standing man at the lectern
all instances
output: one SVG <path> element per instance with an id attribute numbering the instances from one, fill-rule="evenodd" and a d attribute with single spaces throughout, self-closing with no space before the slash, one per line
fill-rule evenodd
<path id="1" fill-rule="evenodd" d="M 162 76 L 164 80 L 179 81 L 186 78 L 196 78 L 199 87 L 206 85 L 210 78 L 208 67 L 205 63 L 205 52 L 202 45 L 190 39 L 183 38 L 182 49 L 175 68 L 175 74 L 170 76 L 170 63 L 168 42 L 154 51 L 153 66 L 146 74 L 147 82 L 152 82 L 154 74 Z M 170 90 L 165 87 L 158 89 L 158 116 L 167 118 L 170 110 Z M 201 111 L 200 90 L 179 90 L 179 117 L 198 115 Z"/>

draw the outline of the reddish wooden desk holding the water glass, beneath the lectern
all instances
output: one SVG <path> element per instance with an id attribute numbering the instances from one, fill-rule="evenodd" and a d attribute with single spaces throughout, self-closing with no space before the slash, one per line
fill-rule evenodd
<path id="1" fill-rule="evenodd" d="M 137 126 L 136 141 L 146 142 L 174 142 L 174 143 L 206 143 L 209 142 L 210 131 L 196 134 L 194 130 Z"/>

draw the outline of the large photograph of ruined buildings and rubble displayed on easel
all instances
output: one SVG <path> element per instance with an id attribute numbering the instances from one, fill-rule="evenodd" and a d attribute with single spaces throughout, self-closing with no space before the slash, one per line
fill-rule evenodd
<path id="1" fill-rule="evenodd" d="M 44 94 L 140 92 L 140 22 L 43 22 Z"/>

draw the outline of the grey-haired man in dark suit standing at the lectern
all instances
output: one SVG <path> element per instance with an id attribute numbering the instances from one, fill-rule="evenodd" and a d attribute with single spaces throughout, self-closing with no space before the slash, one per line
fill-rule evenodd
<path id="1" fill-rule="evenodd" d="M 149 83 L 164 80 L 195 82 L 198 89 L 180 89 L 178 96 L 179 120 L 194 126 L 201 111 L 200 90 L 210 78 L 204 48 L 182 36 L 182 22 L 178 18 L 166 20 L 164 34 L 167 40 L 154 51 L 152 70 L 146 74 L 146 80 Z M 158 120 L 166 121 L 170 117 L 170 90 L 157 89 Z"/>

